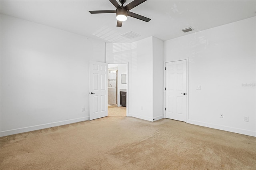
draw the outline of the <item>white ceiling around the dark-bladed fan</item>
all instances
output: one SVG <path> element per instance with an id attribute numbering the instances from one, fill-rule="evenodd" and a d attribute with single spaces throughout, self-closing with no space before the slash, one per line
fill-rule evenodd
<path id="1" fill-rule="evenodd" d="M 131 1 L 127 0 L 124 6 Z M 148 0 L 130 11 L 151 20 L 144 22 L 128 16 L 122 27 L 116 27 L 115 13 L 88 12 L 115 9 L 108 0 L 1 0 L 1 14 L 105 42 L 132 42 L 149 36 L 165 41 L 199 32 L 256 16 L 256 1 Z M 188 27 L 194 30 L 187 33 L 181 31 Z M 140 36 L 131 40 L 120 36 L 130 31 Z"/>

